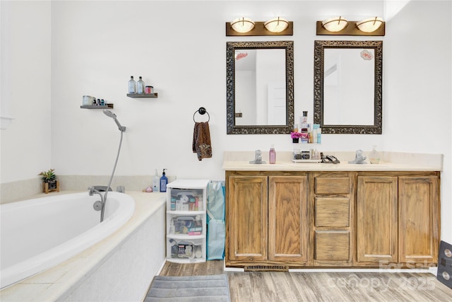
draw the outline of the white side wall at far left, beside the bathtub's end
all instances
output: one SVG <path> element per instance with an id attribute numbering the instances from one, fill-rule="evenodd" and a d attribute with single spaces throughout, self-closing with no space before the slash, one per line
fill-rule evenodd
<path id="1" fill-rule="evenodd" d="M 53 165 L 50 132 L 50 2 L 0 1 L 1 182 L 37 178 Z M 5 104 L 5 105 L 4 105 Z M 2 112 L 3 113 L 3 112 Z"/>

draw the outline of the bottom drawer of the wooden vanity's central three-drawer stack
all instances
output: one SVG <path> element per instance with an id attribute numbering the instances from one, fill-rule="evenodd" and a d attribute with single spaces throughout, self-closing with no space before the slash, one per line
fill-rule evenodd
<path id="1" fill-rule="evenodd" d="M 315 260 L 349 260 L 350 233 L 317 231 Z"/>

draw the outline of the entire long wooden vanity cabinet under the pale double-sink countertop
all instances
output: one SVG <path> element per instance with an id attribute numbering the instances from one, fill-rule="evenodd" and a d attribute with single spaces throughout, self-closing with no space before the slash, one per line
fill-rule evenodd
<path id="1" fill-rule="evenodd" d="M 435 171 L 226 171 L 227 267 L 429 267 Z"/>

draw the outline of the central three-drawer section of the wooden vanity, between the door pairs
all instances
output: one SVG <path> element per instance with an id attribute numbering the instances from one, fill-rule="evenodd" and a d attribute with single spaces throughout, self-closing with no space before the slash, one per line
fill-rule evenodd
<path id="1" fill-rule="evenodd" d="M 314 266 L 350 267 L 355 250 L 355 181 L 347 172 L 317 172 L 310 178 Z"/>

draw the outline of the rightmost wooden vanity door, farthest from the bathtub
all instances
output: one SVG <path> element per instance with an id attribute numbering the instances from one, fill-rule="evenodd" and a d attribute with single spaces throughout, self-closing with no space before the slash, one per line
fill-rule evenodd
<path id="1" fill-rule="evenodd" d="M 438 178 L 399 178 L 400 262 L 438 262 Z"/>

